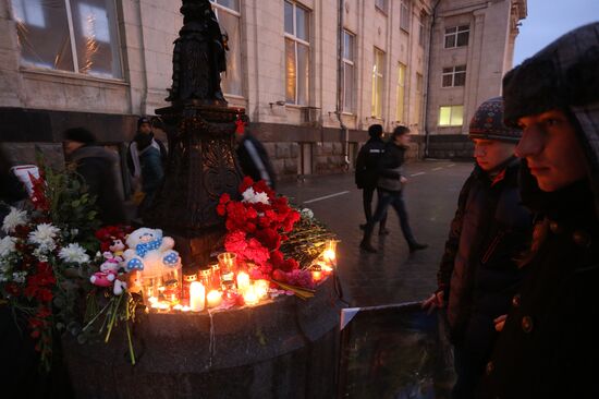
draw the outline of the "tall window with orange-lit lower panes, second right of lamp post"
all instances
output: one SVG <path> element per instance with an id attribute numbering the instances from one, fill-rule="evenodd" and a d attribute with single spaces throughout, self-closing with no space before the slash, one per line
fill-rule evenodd
<path id="1" fill-rule="evenodd" d="M 309 11 L 285 1 L 285 101 L 308 105 L 309 94 Z"/>

